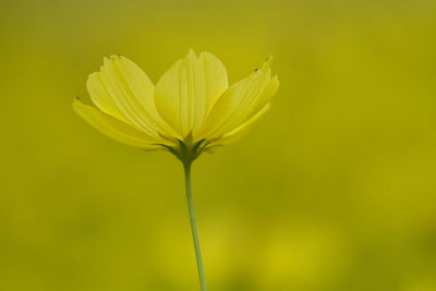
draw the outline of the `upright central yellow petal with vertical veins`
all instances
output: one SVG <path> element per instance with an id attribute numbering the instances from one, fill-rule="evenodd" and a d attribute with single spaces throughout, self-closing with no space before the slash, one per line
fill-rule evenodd
<path id="1" fill-rule="evenodd" d="M 211 53 L 203 52 L 197 58 L 191 50 L 157 83 L 156 106 L 182 137 L 195 136 L 227 87 L 227 71 L 222 63 Z"/>

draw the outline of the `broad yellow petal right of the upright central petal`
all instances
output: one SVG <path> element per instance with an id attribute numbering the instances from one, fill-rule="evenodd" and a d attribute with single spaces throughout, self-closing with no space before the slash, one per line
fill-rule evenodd
<path id="1" fill-rule="evenodd" d="M 220 138 L 250 120 L 270 101 L 279 87 L 270 76 L 269 61 L 262 70 L 229 87 L 218 99 L 199 134 L 201 138 Z"/>

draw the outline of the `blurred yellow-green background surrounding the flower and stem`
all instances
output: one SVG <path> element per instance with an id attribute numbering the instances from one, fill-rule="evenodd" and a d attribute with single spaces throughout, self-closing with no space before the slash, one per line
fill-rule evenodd
<path id="1" fill-rule="evenodd" d="M 182 167 L 72 110 L 124 54 L 281 87 L 193 169 L 211 291 L 436 290 L 436 2 L 0 1 L 0 290 L 198 290 Z"/>

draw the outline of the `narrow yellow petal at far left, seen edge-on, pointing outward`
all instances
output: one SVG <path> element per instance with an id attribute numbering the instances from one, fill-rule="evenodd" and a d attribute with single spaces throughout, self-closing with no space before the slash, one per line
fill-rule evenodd
<path id="1" fill-rule="evenodd" d="M 82 104 L 78 100 L 73 102 L 73 109 L 90 125 L 109 136 L 117 142 L 144 148 L 157 149 L 159 146 L 153 145 L 160 143 L 153 136 L 146 135 L 143 132 L 123 123 L 122 121 L 112 118 L 111 116 L 100 111 L 99 109 Z"/>

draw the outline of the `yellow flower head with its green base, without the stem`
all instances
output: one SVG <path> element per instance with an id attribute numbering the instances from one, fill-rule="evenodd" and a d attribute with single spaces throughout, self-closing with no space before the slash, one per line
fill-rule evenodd
<path id="1" fill-rule="evenodd" d="M 268 109 L 279 86 L 270 61 L 229 87 L 226 68 L 215 56 L 197 57 L 191 50 L 155 86 L 131 60 L 111 56 L 87 81 L 96 107 L 75 100 L 73 108 L 120 143 L 166 148 L 193 160 L 202 150 L 241 136 Z"/>

